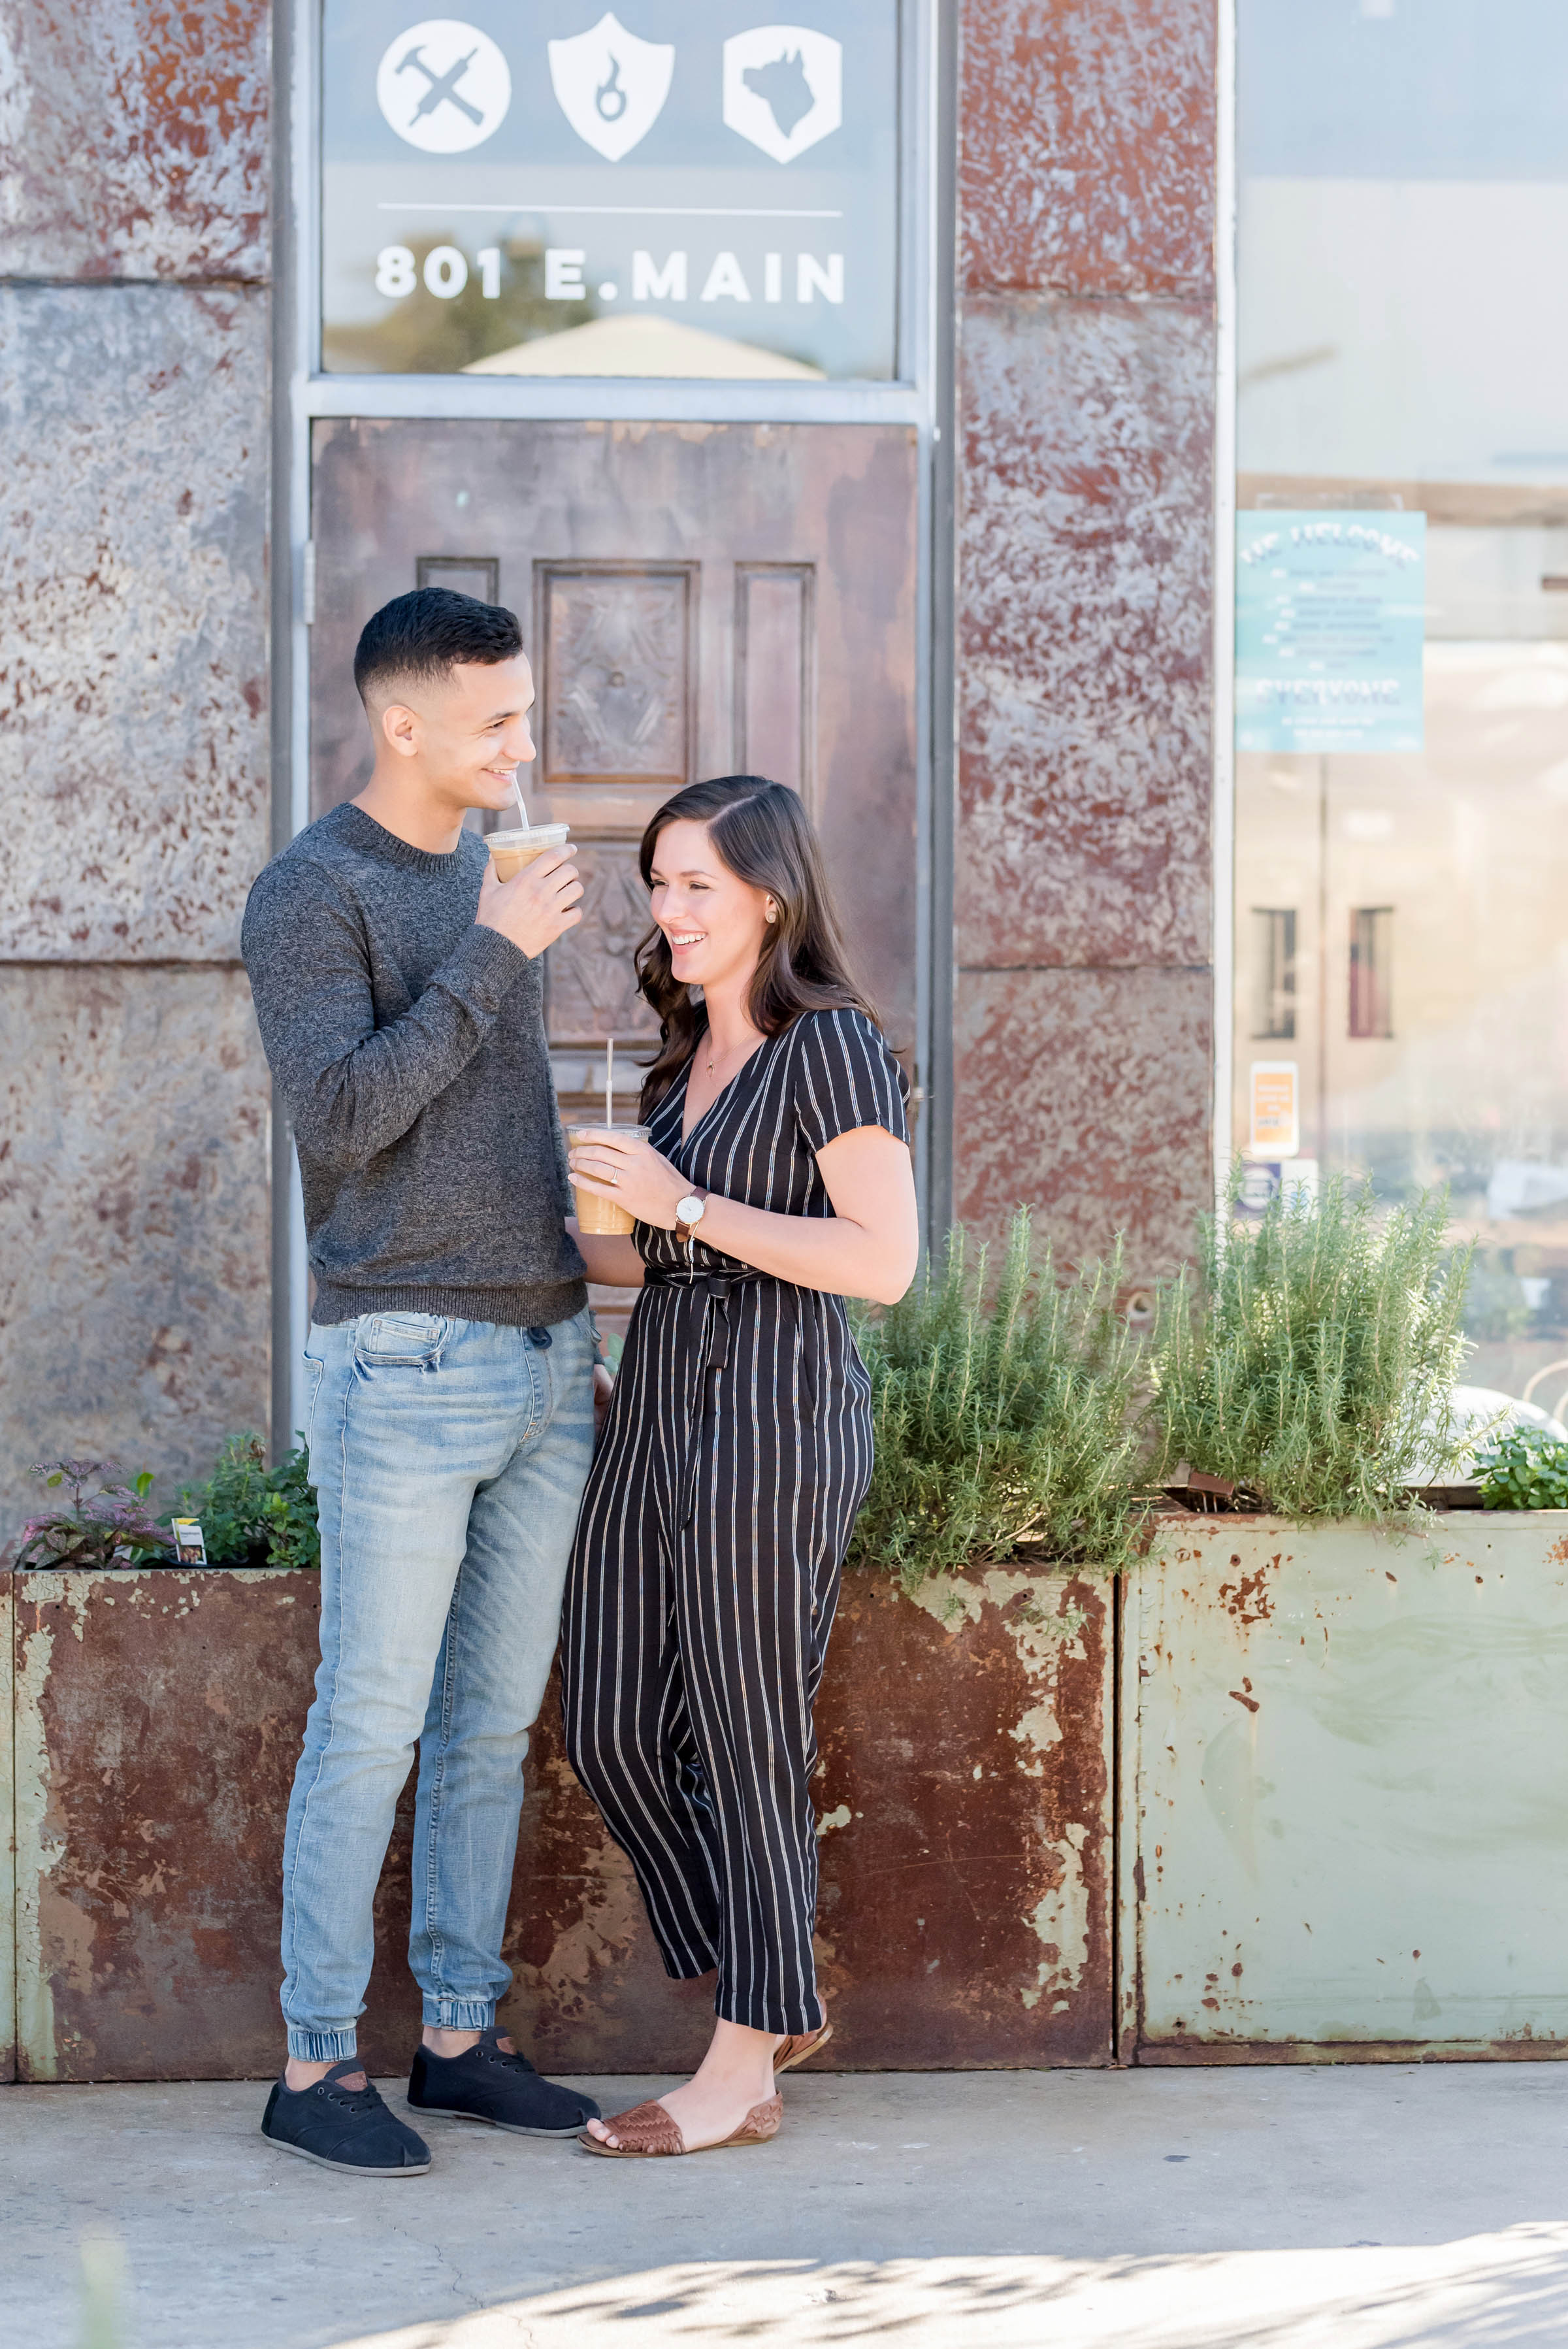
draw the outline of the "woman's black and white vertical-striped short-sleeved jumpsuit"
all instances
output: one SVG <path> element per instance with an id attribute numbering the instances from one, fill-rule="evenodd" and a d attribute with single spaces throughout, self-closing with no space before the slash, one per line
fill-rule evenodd
<path id="1" fill-rule="evenodd" d="M 688 1142 L 676 1078 L 653 1146 L 707 1191 L 831 1214 L 815 1153 L 857 1125 L 908 1139 L 904 1092 L 864 1012 L 803 1012 Z M 810 2032 L 812 1705 L 871 1478 L 871 1386 L 840 1297 L 646 1224 L 636 1245 L 648 1285 L 566 1586 L 566 1748 L 667 1971 L 716 1966 L 721 2015 Z"/>

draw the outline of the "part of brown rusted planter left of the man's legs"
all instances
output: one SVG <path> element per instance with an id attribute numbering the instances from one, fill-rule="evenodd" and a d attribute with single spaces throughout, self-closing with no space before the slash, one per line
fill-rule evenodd
<path id="1" fill-rule="evenodd" d="M 277 2065 L 315 1574 L 16 1576 L 21 2079 Z"/>

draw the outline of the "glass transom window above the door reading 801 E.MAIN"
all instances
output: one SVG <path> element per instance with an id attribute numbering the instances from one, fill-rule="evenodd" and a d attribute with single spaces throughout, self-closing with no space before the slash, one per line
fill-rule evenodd
<path id="1" fill-rule="evenodd" d="M 890 378 L 899 9 L 326 0 L 322 366 Z"/>

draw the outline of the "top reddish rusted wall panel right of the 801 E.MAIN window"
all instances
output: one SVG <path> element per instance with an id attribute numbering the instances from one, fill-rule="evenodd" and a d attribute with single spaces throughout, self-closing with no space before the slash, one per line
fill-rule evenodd
<path id="1" fill-rule="evenodd" d="M 965 284 L 1209 294 L 1214 0 L 962 0 Z"/>

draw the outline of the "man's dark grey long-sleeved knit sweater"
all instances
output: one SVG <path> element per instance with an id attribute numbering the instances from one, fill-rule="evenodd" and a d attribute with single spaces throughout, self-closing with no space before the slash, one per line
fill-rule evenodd
<path id="1" fill-rule="evenodd" d="M 272 857 L 244 968 L 305 1184 L 315 1320 L 538 1327 L 587 1304 L 545 963 L 474 923 L 484 843 L 430 855 L 333 808 Z"/>

